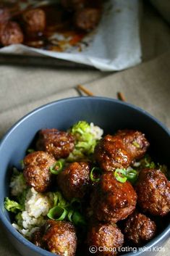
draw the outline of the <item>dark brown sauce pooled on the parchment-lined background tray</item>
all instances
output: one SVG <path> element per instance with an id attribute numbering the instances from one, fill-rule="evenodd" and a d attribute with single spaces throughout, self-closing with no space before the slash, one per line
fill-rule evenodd
<path id="1" fill-rule="evenodd" d="M 86 0 L 83 8 L 91 8 L 95 10 L 97 9 L 101 15 L 102 1 Z M 30 9 L 33 8 L 29 7 L 28 10 Z M 23 15 L 25 15 L 27 10 L 25 12 L 20 11 L 20 7 L 18 6 L 14 9 L 11 18 L 11 20 L 20 24 L 24 33 L 23 44 L 26 46 L 39 49 L 47 49 L 50 51 L 65 51 L 72 46 L 77 46 L 80 44 L 82 39 L 85 38 L 85 36 L 87 36 L 88 33 L 91 32 L 98 23 L 96 20 L 95 25 L 92 25 L 91 28 L 88 26 L 90 29 L 83 30 L 79 28 L 79 24 L 81 22 L 77 22 L 75 18 L 77 12 L 80 12 L 80 9 L 77 9 L 76 11 L 72 9 L 66 9 L 62 7 L 61 4 L 51 4 L 48 6 L 40 7 L 38 9 L 43 10 L 46 15 L 46 28 L 43 30 L 43 32 L 27 33 L 26 25 L 23 20 Z"/>

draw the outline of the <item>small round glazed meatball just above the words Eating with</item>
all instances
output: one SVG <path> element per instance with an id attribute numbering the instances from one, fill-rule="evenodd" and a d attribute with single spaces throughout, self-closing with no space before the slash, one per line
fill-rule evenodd
<path id="1" fill-rule="evenodd" d="M 156 234 L 156 224 L 145 215 L 134 212 L 124 224 L 124 236 L 134 244 L 140 245 L 153 238 Z"/>

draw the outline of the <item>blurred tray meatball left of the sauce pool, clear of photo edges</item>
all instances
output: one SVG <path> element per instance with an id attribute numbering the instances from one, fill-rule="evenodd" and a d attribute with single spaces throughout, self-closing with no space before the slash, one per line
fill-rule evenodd
<path id="1" fill-rule="evenodd" d="M 22 15 L 22 18 L 29 35 L 43 32 L 46 28 L 46 14 L 43 9 L 30 9 Z"/>

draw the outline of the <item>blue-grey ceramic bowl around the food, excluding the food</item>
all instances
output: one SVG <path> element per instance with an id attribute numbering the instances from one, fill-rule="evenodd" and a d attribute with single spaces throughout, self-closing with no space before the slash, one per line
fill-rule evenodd
<path id="1" fill-rule="evenodd" d="M 35 133 L 41 128 L 66 130 L 78 120 L 87 120 L 103 128 L 105 133 L 114 133 L 118 129 L 129 128 L 143 131 L 150 141 L 150 153 L 157 162 L 170 166 L 170 133 L 156 118 L 147 112 L 124 102 L 103 97 L 78 97 L 46 104 L 23 117 L 7 132 L 0 144 L 0 219 L 7 231 L 9 241 L 21 255 L 50 256 L 46 250 L 36 247 L 20 235 L 11 225 L 10 216 L 4 209 L 4 197 L 9 195 L 9 169 L 19 167 Z M 170 225 L 167 223 L 160 234 L 146 246 L 161 247 L 169 237 Z M 153 249 L 148 252 L 129 252 L 127 255 L 156 255 Z"/>

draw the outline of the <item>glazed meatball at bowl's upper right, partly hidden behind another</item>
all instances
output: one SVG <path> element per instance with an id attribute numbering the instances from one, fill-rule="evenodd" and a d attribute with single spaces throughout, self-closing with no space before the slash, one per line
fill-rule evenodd
<path id="1" fill-rule="evenodd" d="M 130 154 L 132 160 L 142 158 L 149 146 L 145 134 L 140 131 L 120 130 L 114 138 L 122 140 L 124 149 Z"/>

